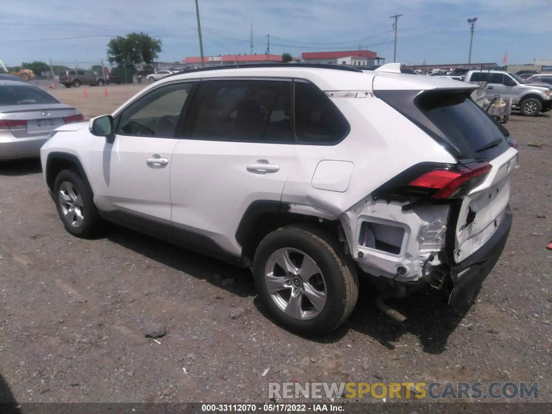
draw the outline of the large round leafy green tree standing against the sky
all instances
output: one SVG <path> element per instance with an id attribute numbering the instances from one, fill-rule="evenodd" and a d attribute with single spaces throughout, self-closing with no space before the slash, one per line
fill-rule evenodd
<path id="1" fill-rule="evenodd" d="M 152 39 L 144 32 L 130 33 L 111 39 L 107 45 L 107 55 L 110 63 L 151 63 L 162 52 L 159 39 Z"/>

